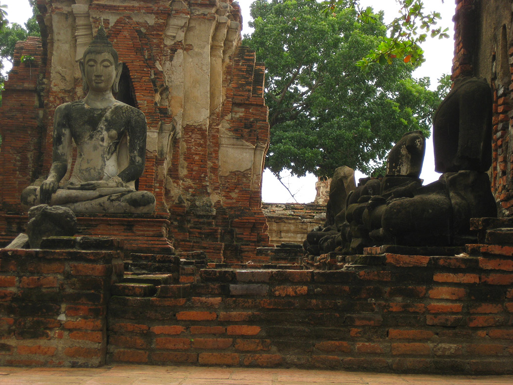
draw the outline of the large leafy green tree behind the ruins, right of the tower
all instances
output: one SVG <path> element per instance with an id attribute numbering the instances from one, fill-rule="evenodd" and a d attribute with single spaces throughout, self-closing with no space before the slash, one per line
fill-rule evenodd
<path id="1" fill-rule="evenodd" d="M 379 170 L 402 134 L 429 136 L 440 102 L 429 80 L 411 77 L 403 61 L 369 66 L 356 61 L 380 44 L 387 27 L 359 22 L 347 1 L 326 17 L 310 0 L 257 0 L 254 28 L 245 44 L 266 65 L 266 103 L 271 125 L 268 167 L 303 176 L 330 177 L 347 165 L 366 174 Z"/>

